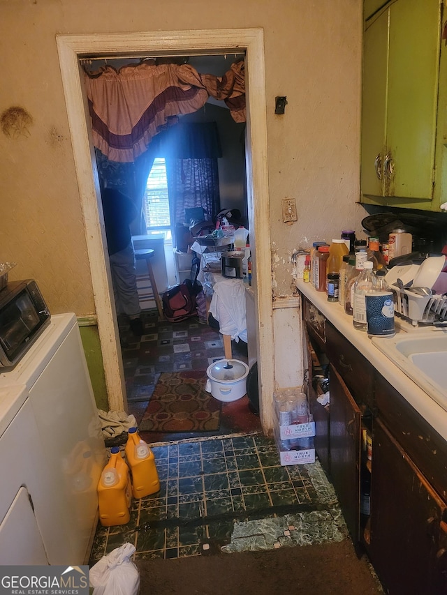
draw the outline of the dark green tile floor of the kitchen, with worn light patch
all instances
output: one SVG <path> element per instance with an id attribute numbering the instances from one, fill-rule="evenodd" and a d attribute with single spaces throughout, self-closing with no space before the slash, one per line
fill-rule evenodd
<path id="1" fill-rule="evenodd" d="M 346 525 L 318 462 L 281 467 L 260 434 L 154 444 L 161 490 L 134 499 L 131 520 L 101 527 L 90 564 L 122 543 L 136 558 L 340 541 Z"/>

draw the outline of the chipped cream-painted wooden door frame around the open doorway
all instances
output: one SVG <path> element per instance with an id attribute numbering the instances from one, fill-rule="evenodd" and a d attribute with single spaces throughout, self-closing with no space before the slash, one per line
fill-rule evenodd
<path id="1" fill-rule="evenodd" d="M 99 55 L 166 57 L 245 52 L 247 97 L 247 202 L 256 308 L 256 353 L 263 430 L 273 427 L 274 342 L 272 267 L 268 200 L 268 151 L 263 29 L 200 29 L 57 35 L 68 126 L 85 221 L 87 252 L 94 291 L 110 410 L 126 411 L 126 391 L 117 317 L 110 281 L 105 232 L 87 97 L 79 59 Z"/>

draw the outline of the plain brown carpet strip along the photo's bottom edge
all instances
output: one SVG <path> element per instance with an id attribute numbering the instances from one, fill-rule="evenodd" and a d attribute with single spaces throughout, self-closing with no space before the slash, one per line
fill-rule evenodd
<path id="1" fill-rule="evenodd" d="M 379 595 L 383 589 L 351 540 L 266 552 L 141 559 L 141 593 L 151 595 Z"/>

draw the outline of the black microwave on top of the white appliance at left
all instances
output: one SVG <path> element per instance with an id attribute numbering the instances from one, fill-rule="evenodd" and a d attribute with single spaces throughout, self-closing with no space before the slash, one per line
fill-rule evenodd
<path id="1" fill-rule="evenodd" d="M 0 291 L 0 370 L 13 368 L 50 323 L 34 280 L 10 281 Z"/>

